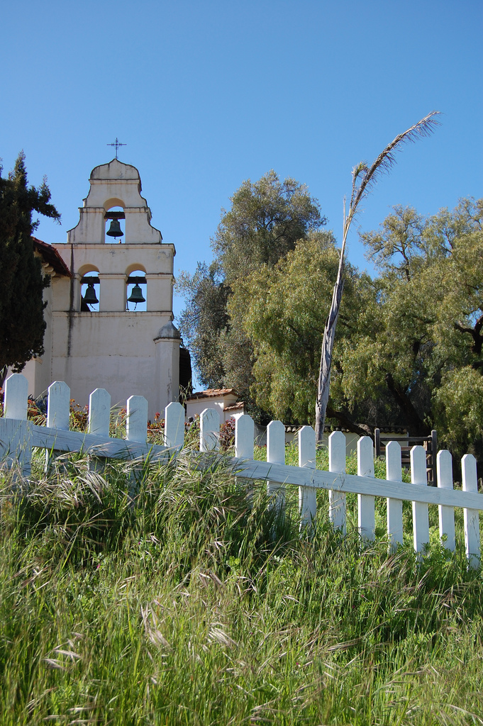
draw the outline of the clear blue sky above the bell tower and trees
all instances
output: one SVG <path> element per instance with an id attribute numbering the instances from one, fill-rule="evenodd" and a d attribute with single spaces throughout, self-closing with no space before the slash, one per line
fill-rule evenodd
<path id="1" fill-rule="evenodd" d="M 192 272 L 235 189 L 271 168 L 309 186 L 340 240 L 354 164 L 436 109 L 358 224 L 395 204 L 433 214 L 482 195 L 482 38 L 482 0 L 17 0 L 0 23 L 4 173 L 24 149 L 62 213 L 37 235 L 65 242 L 118 136 L 175 272 Z M 368 267 L 355 229 L 349 259 Z"/>

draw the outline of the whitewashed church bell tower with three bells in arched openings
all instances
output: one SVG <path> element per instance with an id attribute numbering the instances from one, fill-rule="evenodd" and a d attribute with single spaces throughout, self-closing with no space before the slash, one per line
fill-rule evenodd
<path id="1" fill-rule="evenodd" d="M 150 224 L 134 166 L 113 159 L 96 166 L 89 181 L 67 244 L 36 245 L 52 277 L 45 296 L 45 354 L 23 373 L 34 397 L 54 380 L 64 380 L 82 406 L 94 388 L 105 388 L 113 405 L 145 396 L 153 419 L 179 396 L 180 338 L 172 322 L 176 252 Z M 113 221 L 124 227 L 122 237 L 109 236 Z M 128 304 L 134 282 L 145 298 L 142 311 Z M 88 289 L 98 305 L 86 302 Z"/>

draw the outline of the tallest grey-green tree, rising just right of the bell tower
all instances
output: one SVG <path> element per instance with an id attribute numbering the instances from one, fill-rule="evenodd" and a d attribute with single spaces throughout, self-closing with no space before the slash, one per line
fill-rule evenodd
<path id="1" fill-rule="evenodd" d="M 326 220 L 304 184 L 280 181 L 275 171 L 254 183 L 244 181 L 231 202 L 211 240 L 214 263 L 180 276 L 178 289 L 187 301 L 180 327 L 202 383 L 234 387 L 250 407 L 255 358 L 243 317 L 236 306 L 229 309 L 229 301 L 235 291 L 243 299 L 245 278 L 253 270 L 271 268 Z"/>

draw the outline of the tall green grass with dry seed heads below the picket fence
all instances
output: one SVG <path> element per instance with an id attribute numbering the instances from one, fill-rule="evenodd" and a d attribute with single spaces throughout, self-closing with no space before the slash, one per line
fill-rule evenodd
<path id="1" fill-rule="evenodd" d="M 325 492 L 303 539 L 296 491 L 277 516 L 223 460 L 133 470 L 1 474 L 2 726 L 483 723 L 461 547 L 343 540 Z"/>

